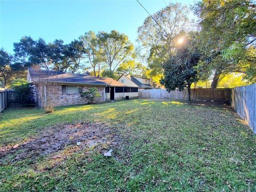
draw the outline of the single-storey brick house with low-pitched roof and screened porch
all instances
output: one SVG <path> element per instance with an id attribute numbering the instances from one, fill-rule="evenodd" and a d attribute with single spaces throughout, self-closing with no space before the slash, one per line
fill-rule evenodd
<path id="1" fill-rule="evenodd" d="M 94 77 L 88 74 L 71 74 L 59 71 L 28 68 L 27 80 L 34 84 L 34 100 L 39 107 L 53 100 L 55 106 L 87 103 L 81 93 L 97 87 L 101 97 L 95 102 L 138 98 L 138 86 L 126 86 L 113 78 Z"/>

